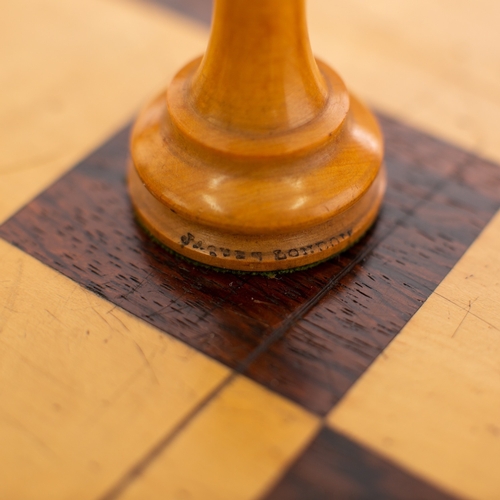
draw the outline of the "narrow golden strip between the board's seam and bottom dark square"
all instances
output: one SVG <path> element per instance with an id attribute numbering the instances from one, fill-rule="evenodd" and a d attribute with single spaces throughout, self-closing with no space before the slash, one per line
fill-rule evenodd
<path id="1" fill-rule="evenodd" d="M 318 426 L 302 408 L 238 377 L 154 463 L 105 499 L 260 498 Z"/>

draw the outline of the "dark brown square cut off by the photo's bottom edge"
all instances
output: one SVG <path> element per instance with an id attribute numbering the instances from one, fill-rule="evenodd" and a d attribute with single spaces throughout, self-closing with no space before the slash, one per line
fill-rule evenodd
<path id="1" fill-rule="evenodd" d="M 451 500 L 346 437 L 323 429 L 266 500 Z"/>

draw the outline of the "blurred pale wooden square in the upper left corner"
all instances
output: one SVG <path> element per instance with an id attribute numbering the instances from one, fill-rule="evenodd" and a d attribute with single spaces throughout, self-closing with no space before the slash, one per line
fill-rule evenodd
<path id="1" fill-rule="evenodd" d="M 3 221 L 123 126 L 207 33 L 135 2 L 0 5 Z"/>

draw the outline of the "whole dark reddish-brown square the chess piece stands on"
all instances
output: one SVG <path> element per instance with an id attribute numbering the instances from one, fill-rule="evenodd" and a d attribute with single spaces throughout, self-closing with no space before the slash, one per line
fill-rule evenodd
<path id="1" fill-rule="evenodd" d="M 128 129 L 7 221 L 0 236 L 325 414 L 499 207 L 498 167 L 391 120 L 382 123 L 390 181 L 379 221 L 347 253 L 306 271 L 274 279 L 220 273 L 156 245 L 135 223 L 126 192 Z"/>

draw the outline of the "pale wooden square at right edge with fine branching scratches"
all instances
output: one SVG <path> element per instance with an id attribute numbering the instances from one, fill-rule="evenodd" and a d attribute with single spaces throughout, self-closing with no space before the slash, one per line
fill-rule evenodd
<path id="1" fill-rule="evenodd" d="M 330 425 L 470 499 L 500 497 L 500 213 L 329 415 Z"/>

